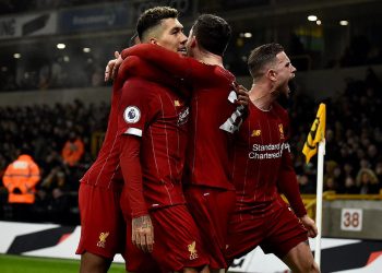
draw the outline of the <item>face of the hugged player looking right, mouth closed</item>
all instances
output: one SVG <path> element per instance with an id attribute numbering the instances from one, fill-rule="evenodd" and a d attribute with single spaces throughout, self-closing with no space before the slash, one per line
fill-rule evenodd
<path id="1" fill-rule="evenodd" d="M 177 19 L 165 19 L 162 21 L 163 32 L 157 38 L 156 44 L 167 48 L 168 50 L 187 55 L 183 26 Z"/>

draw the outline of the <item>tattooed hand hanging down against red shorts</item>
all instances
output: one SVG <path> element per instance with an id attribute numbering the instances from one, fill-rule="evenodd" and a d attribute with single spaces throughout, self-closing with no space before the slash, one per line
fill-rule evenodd
<path id="1" fill-rule="evenodd" d="M 152 252 L 154 245 L 154 226 L 148 215 L 131 221 L 131 240 L 143 252 Z"/>

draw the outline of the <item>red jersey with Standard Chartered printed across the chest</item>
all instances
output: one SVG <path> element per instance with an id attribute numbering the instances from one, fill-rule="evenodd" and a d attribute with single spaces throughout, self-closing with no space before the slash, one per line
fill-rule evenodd
<path id="1" fill-rule="evenodd" d="M 235 145 L 236 210 L 265 213 L 273 205 L 279 205 L 278 182 L 286 182 L 287 178 L 291 180 L 288 182 L 297 185 L 288 143 L 289 119 L 287 111 L 276 103 L 268 111 L 260 110 L 253 104 L 249 110 Z M 293 199 L 299 202 L 298 188 Z"/>

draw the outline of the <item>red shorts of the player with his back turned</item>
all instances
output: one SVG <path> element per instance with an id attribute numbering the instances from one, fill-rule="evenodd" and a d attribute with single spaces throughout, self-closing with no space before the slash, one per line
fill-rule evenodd
<path id="1" fill-rule="evenodd" d="M 228 221 L 235 211 L 235 191 L 191 186 L 184 194 L 210 256 L 210 269 L 227 269 Z"/>

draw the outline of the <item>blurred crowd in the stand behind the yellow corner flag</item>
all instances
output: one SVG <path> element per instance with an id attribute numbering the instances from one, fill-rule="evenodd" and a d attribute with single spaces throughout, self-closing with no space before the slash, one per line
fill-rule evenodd
<path id="1" fill-rule="evenodd" d="M 346 90 L 326 99 L 324 191 L 379 193 L 382 188 L 382 84 L 372 70 L 365 81 L 349 81 Z M 290 108 L 291 146 L 302 193 L 315 193 L 314 157 L 305 164 L 301 154 L 318 105 L 296 94 Z"/>

